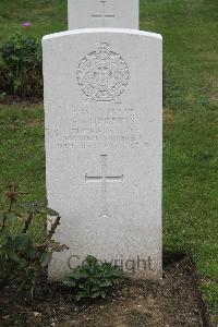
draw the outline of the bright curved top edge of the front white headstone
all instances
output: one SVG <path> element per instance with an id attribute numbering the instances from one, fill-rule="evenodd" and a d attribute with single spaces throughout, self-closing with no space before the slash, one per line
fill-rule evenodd
<path id="1" fill-rule="evenodd" d="M 45 35 L 43 37 L 43 43 L 55 39 L 55 38 L 60 38 L 60 37 L 65 37 L 70 35 L 78 35 L 78 34 L 99 34 L 99 33 L 114 33 L 114 34 L 130 34 L 130 35 L 138 35 L 138 36 L 147 36 L 156 39 L 162 40 L 162 36 L 157 33 L 153 32 L 145 32 L 145 31 L 140 31 L 140 29 L 130 29 L 130 28 L 82 28 L 82 29 L 73 29 L 73 31 L 65 31 L 65 32 L 59 32 L 59 33 L 53 33 L 49 35 Z"/>

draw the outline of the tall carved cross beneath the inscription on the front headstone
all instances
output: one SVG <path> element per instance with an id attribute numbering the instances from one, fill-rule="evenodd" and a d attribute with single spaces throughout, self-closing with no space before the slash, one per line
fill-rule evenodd
<path id="1" fill-rule="evenodd" d="M 107 206 L 107 182 L 122 182 L 122 175 L 108 175 L 107 173 L 107 155 L 100 156 L 101 174 L 100 175 L 85 175 L 86 182 L 100 182 L 101 183 L 101 195 L 102 195 L 102 213 L 100 217 L 108 218 L 109 210 Z"/>

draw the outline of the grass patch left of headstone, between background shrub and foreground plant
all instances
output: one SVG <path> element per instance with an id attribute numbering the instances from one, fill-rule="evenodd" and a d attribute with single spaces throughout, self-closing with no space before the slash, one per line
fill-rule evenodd
<path id="1" fill-rule="evenodd" d="M 13 181 L 32 198 L 45 198 L 41 106 L 0 106 L 0 191 Z M 3 198 L 1 196 L 1 203 Z"/>

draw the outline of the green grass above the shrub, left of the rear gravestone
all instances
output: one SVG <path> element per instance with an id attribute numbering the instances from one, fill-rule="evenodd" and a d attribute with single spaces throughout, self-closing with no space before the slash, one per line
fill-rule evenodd
<path id="1" fill-rule="evenodd" d="M 26 33 L 39 39 L 45 34 L 66 29 L 66 0 L 0 0 L 0 40 L 23 29 L 22 22 L 32 22 Z"/>

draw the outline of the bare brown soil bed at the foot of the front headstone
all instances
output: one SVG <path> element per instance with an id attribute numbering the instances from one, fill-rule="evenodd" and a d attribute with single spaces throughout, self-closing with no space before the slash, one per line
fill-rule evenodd
<path id="1" fill-rule="evenodd" d="M 15 290 L 0 296 L 0 326 L 57 327 L 198 327 L 209 326 L 195 284 L 194 266 L 187 257 L 167 261 L 164 279 L 126 281 L 106 300 L 75 305 L 60 284 L 46 281 L 33 300 L 28 293 L 12 301 Z"/>

